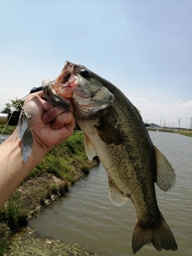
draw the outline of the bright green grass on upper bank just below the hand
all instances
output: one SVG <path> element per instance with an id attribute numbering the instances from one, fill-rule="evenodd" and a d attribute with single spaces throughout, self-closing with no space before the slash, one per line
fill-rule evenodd
<path id="1" fill-rule="evenodd" d="M 78 132 L 46 154 L 42 162 L 30 172 L 27 178 L 48 173 L 71 184 L 77 178 L 77 170 L 86 173 L 89 169 L 90 161 L 86 157 L 83 135 Z"/>

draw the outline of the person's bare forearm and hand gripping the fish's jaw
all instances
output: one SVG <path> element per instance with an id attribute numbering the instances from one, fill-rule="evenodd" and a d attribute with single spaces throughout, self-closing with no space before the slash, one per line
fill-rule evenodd
<path id="1" fill-rule="evenodd" d="M 22 142 L 17 130 L 0 146 L 0 209 L 46 153 L 64 142 L 74 131 L 73 114 L 50 106 L 41 98 L 41 92 L 27 96 L 24 108 L 31 116 L 33 149 L 30 158 L 23 162 Z"/>

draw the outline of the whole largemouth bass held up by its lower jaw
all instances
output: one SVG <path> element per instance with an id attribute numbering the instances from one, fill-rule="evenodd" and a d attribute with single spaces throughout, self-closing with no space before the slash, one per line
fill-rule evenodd
<path id="1" fill-rule="evenodd" d="M 44 90 L 48 100 L 51 86 L 48 82 Z M 132 238 L 134 254 L 147 243 L 157 250 L 177 250 L 154 187 L 156 182 L 160 189 L 170 190 L 175 184 L 174 170 L 151 142 L 137 108 L 112 83 L 70 62 L 51 90 L 72 103 L 88 158 L 98 154 L 108 174 L 110 200 L 117 206 L 128 198 L 134 203 L 138 217 Z M 62 108 L 62 103 L 55 106 Z"/>

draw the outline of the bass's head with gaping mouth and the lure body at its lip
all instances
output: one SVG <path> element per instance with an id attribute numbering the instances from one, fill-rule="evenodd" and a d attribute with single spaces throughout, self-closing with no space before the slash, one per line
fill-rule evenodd
<path id="1" fill-rule="evenodd" d="M 92 86 L 91 79 L 90 71 L 85 66 L 66 62 L 54 84 L 50 84 L 49 80 L 42 82 L 43 93 L 53 106 L 68 111 L 66 105 L 72 103 L 74 114 L 87 118 L 114 101 L 114 95 L 109 90 L 98 84 Z"/>

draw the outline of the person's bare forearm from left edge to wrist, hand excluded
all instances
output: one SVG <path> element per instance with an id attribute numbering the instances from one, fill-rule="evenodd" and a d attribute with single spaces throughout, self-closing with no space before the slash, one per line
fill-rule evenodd
<path id="1" fill-rule="evenodd" d="M 10 197 L 10 194 L 30 173 L 30 170 L 37 166 L 46 154 L 45 150 L 39 148 L 38 143 L 34 140 L 30 158 L 23 162 L 20 146 L 21 140 L 18 138 L 17 130 L 0 146 L 0 209 Z"/>

